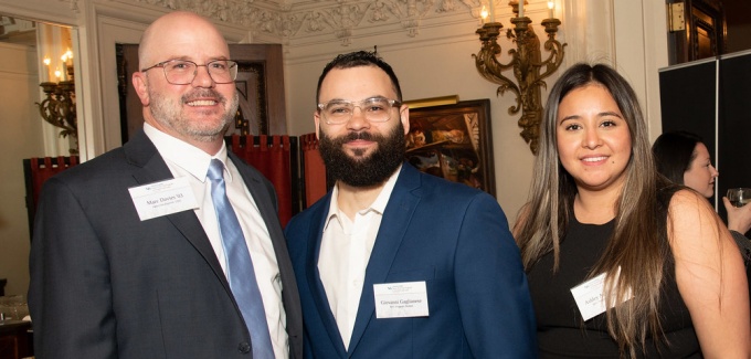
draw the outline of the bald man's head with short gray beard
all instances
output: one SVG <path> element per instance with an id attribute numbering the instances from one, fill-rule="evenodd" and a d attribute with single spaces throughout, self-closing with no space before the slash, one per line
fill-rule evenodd
<path id="1" fill-rule="evenodd" d="M 230 49 L 209 20 L 184 11 L 157 19 L 144 32 L 138 49 L 140 71 L 131 78 L 146 124 L 216 154 L 237 112 L 234 83 L 216 83 L 211 74 L 209 64 L 223 60 L 230 60 Z M 190 63 L 195 64 L 192 74 L 183 67 Z M 181 77 L 170 82 L 168 73 Z"/>

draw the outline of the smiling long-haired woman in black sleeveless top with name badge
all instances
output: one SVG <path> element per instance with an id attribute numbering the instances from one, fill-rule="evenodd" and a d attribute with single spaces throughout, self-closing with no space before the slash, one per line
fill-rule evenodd
<path id="1" fill-rule="evenodd" d="M 655 170 L 647 127 L 612 67 L 551 88 L 515 236 L 541 358 L 748 358 L 749 293 L 709 202 Z"/>

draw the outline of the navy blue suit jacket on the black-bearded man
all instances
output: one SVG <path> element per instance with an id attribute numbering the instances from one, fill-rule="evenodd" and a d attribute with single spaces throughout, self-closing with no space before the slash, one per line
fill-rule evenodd
<path id="1" fill-rule="evenodd" d="M 318 255 L 331 192 L 285 234 L 299 287 L 306 358 L 535 358 L 532 305 L 519 250 L 489 194 L 404 163 L 366 270 L 349 350 Z M 373 284 L 426 283 L 430 315 L 376 318 Z"/>

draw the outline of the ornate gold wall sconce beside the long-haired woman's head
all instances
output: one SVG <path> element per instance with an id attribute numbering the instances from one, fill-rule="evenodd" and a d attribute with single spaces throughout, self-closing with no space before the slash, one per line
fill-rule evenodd
<path id="1" fill-rule="evenodd" d="M 509 1 L 515 18 L 511 18 L 514 29 L 508 29 L 506 38 L 516 43 L 516 49 L 510 49 L 508 54 L 511 60 L 507 64 L 501 64 L 496 57 L 501 49 L 498 44 L 498 35 L 504 25 L 495 21 L 494 0 L 489 0 L 490 21 L 485 22 L 477 29 L 482 42 L 480 50 L 475 57 L 475 65 L 479 74 L 487 81 L 498 84 L 496 96 L 504 95 L 506 91 L 516 94 L 516 105 L 508 108 L 509 115 L 516 115 L 521 110 L 519 127 L 520 136 L 529 144 L 532 154 L 537 155 L 538 140 L 540 136 L 540 122 L 542 120 L 541 87 L 547 88 L 544 78 L 550 76 L 563 62 L 564 46 L 556 40 L 556 33 L 561 21 L 553 18 L 553 1 L 548 1 L 548 19 L 542 20 L 541 24 L 548 33 L 544 49 L 550 53 L 548 59 L 542 61 L 540 40 L 531 25 L 531 20 L 523 14 L 526 0 Z M 485 19 L 487 11 L 483 10 L 480 17 Z M 503 72 L 512 70 L 516 83 L 504 76 Z"/>

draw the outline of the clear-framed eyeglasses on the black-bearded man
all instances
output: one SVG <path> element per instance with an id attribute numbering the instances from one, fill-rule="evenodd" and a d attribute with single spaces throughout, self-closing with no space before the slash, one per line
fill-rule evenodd
<path id="1" fill-rule="evenodd" d="M 341 125 L 352 118 L 355 107 L 359 107 L 369 123 L 385 123 L 391 119 L 391 108 L 399 107 L 402 103 L 385 97 L 371 97 L 363 101 L 332 99 L 318 104 L 318 109 L 324 115 L 328 125 Z"/>

